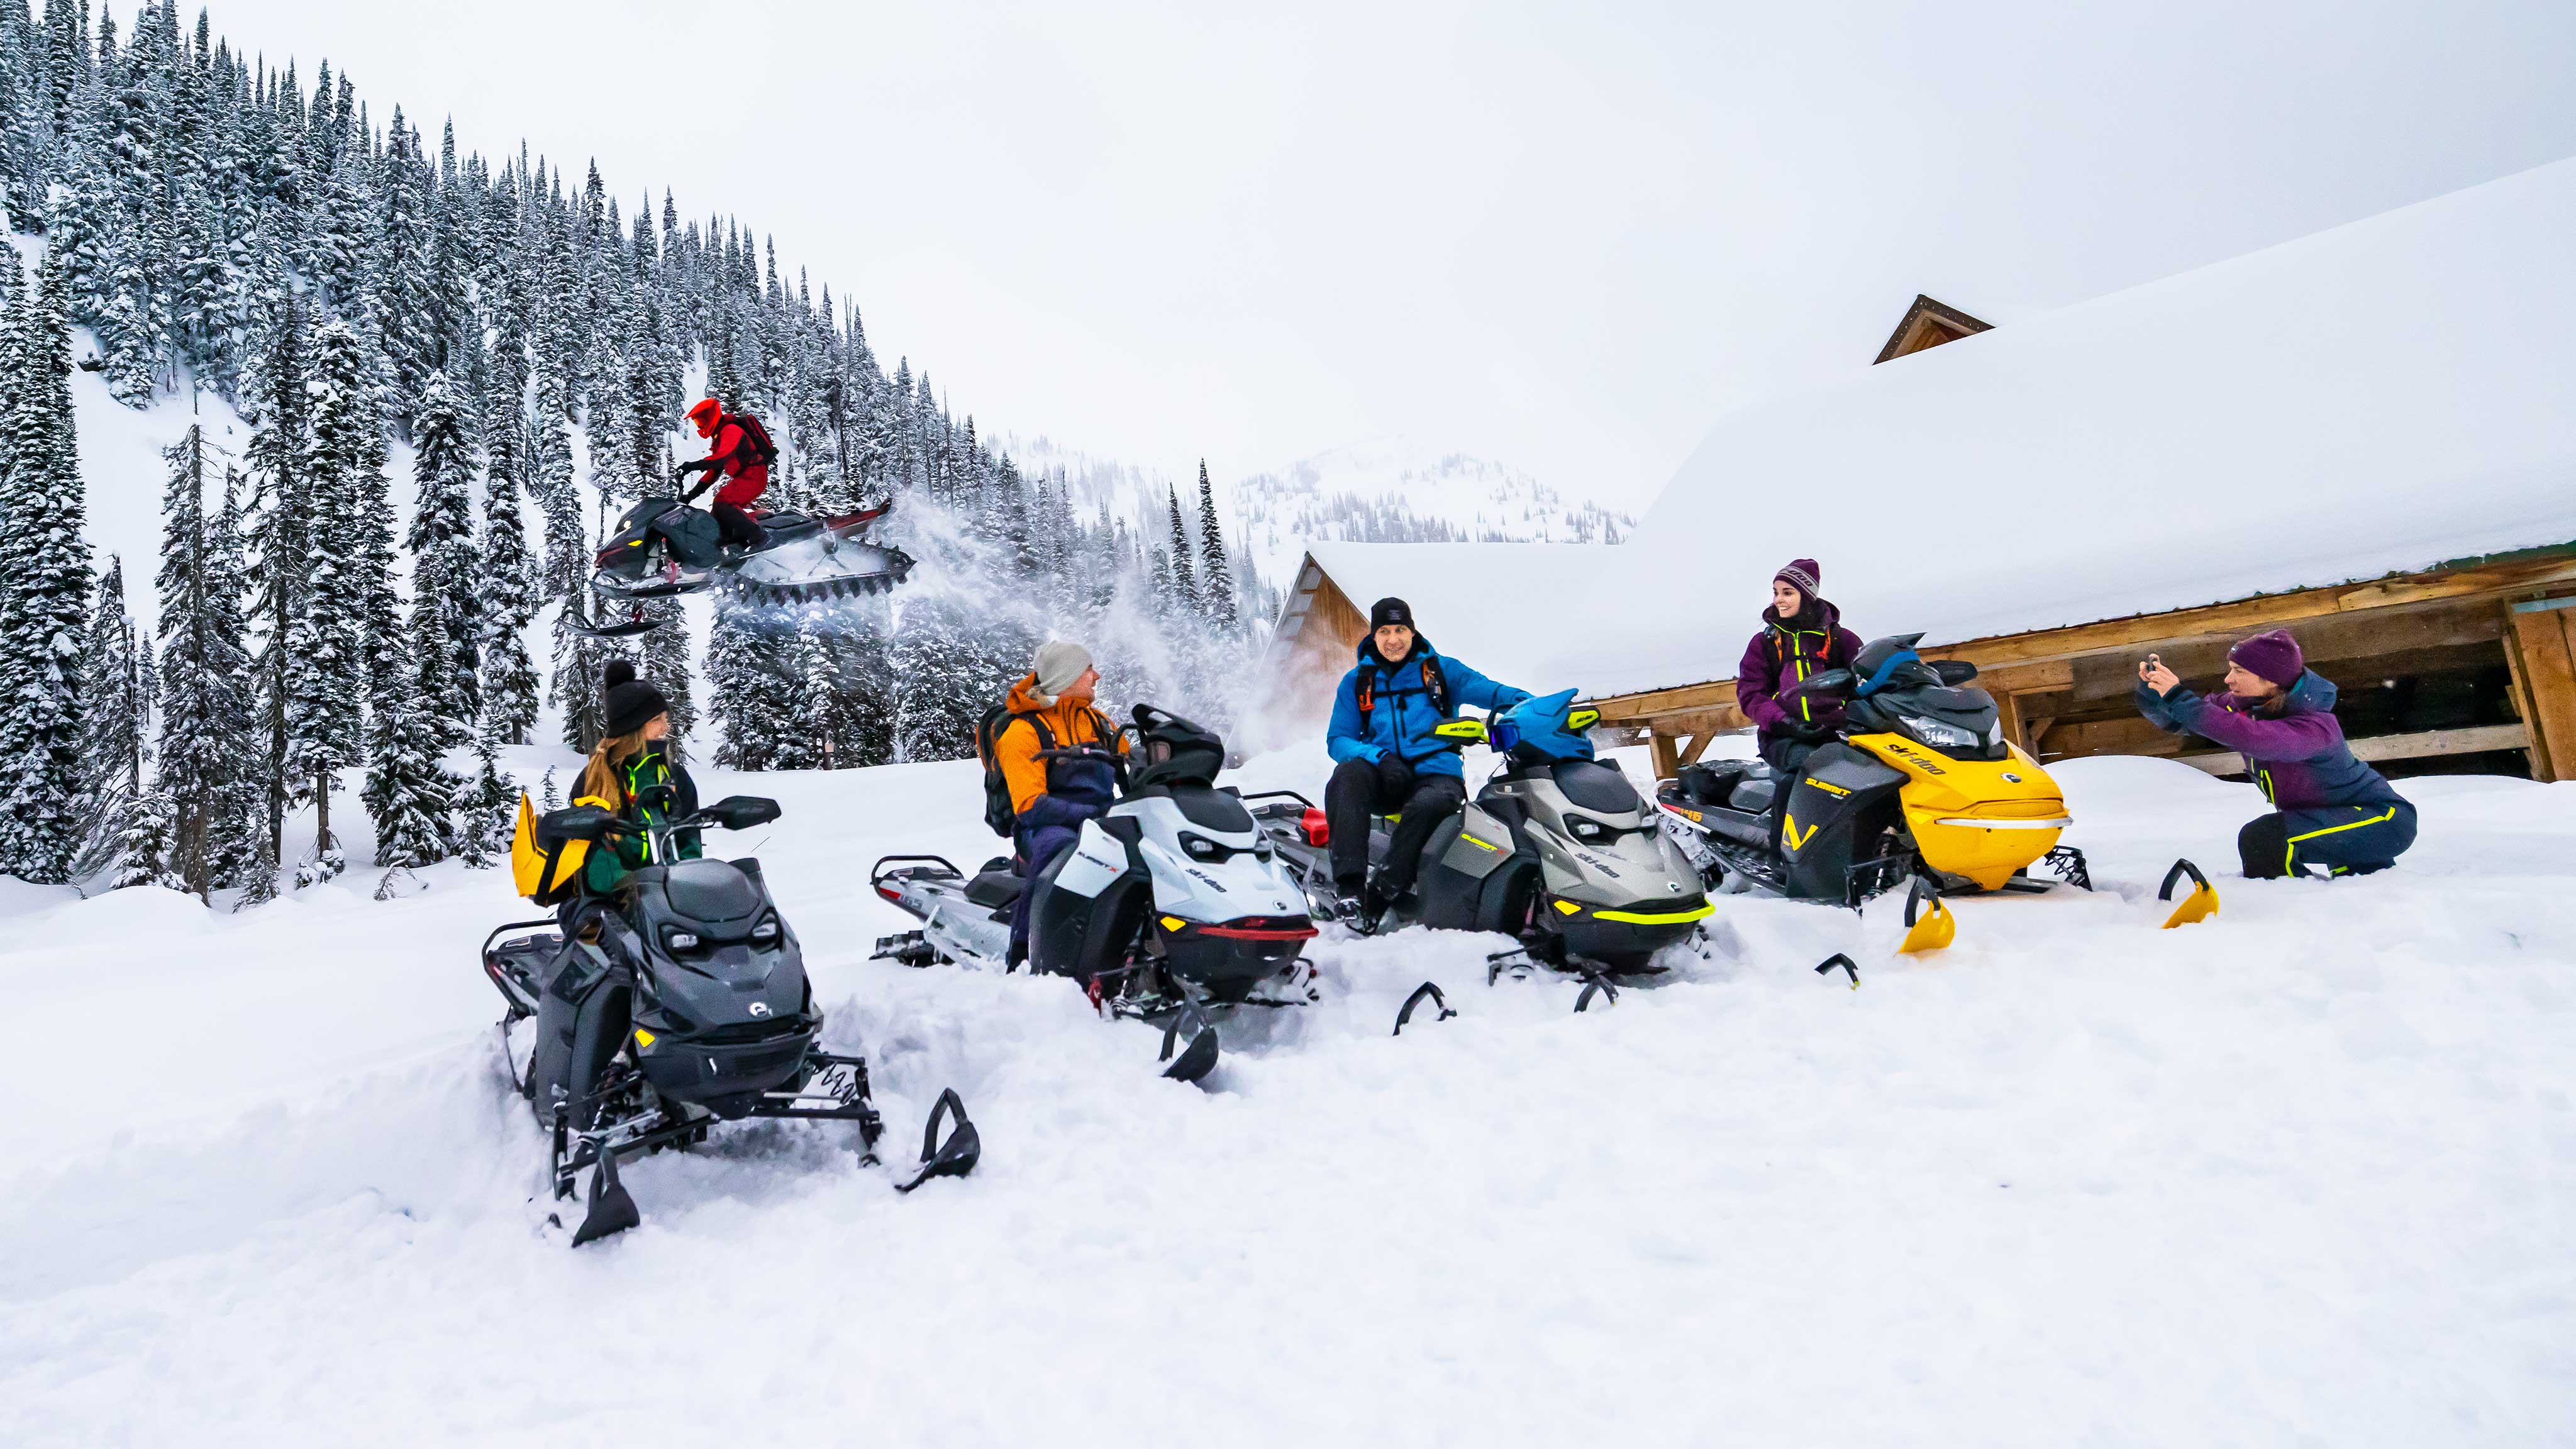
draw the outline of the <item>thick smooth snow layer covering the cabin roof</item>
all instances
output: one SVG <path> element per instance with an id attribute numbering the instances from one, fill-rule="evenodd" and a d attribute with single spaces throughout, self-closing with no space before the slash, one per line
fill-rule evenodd
<path id="1" fill-rule="evenodd" d="M 1316 544 L 1486 673 L 1726 678 L 1793 557 L 1860 634 L 2056 629 L 2576 541 L 2576 160 L 1710 428 L 1633 541 Z"/>

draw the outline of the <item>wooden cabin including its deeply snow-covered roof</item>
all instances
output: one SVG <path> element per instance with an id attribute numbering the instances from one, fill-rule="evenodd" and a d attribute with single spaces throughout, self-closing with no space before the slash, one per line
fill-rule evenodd
<path id="1" fill-rule="evenodd" d="M 1368 603 L 1579 686 L 1659 773 L 1744 730 L 1772 572 L 1973 660 L 2040 761 L 2241 761 L 2136 714 L 2290 629 L 2391 773 L 2576 779 L 2576 162 L 1986 327 L 1919 297 L 1880 361 L 1716 423 L 1623 544 L 1314 544 L 1265 663 L 1321 714 Z M 2362 304 L 2367 299 L 2367 304 Z"/>

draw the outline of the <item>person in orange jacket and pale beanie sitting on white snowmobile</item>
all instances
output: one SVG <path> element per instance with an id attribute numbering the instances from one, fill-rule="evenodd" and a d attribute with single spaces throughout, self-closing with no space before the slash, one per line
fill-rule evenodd
<path id="1" fill-rule="evenodd" d="M 1018 817 L 1012 843 L 1028 882 L 1074 848 L 1084 820 L 1118 799 L 1126 737 L 1108 714 L 1092 709 L 1097 686 L 1092 652 L 1066 639 L 1041 645 L 1036 665 L 1010 686 L 1010 722 L 994 732 L 992 758 L 1010 786 Z M 1030 895 L 1036 892 L 1020 890 L 1020 902 L 1010 910 L 1010 964 L 1028 959 Z"/>

